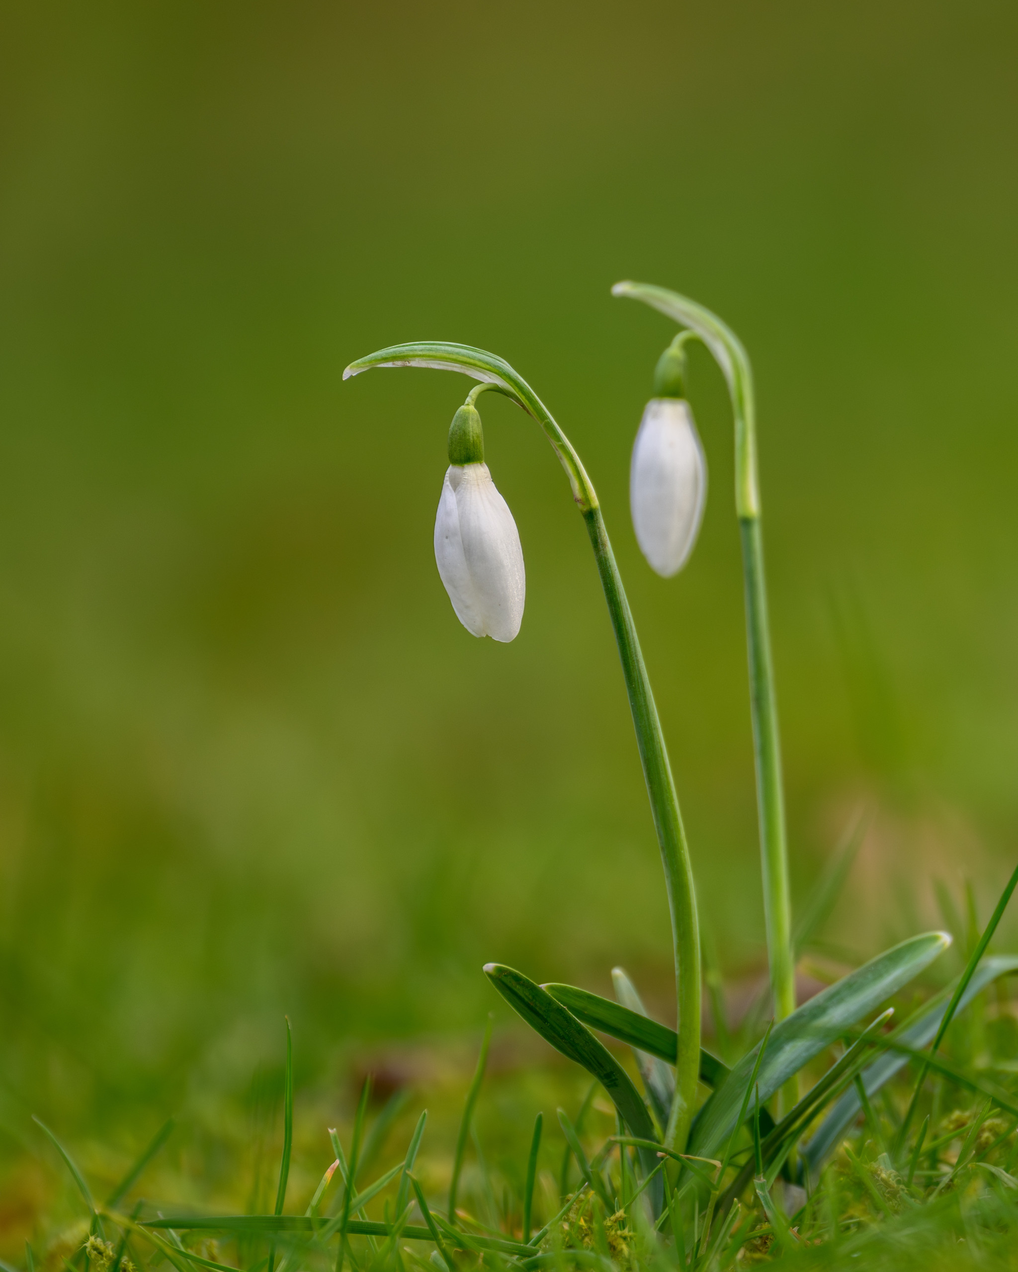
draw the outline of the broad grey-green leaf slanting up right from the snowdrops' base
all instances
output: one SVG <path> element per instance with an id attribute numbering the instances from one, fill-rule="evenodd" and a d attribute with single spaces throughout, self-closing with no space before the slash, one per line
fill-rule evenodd
<path id="1" fill-rule="evenodd" d="M 757 1074 L 761 1102 L 809 1063 L 850 1025 L 878 1007 L 951 944 L 947 932 L 925 932 L 878 954 L 836 985 L 822 990 L 775 1025 Z M 694 1122 L 690 1152 L 709 1156 L 730 1133 L 750 1080 L 756 1048 L 715 1089 Z"/>

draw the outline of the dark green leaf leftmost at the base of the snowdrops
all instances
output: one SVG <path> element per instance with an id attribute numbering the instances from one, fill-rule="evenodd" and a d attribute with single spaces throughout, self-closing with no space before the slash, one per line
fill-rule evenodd
<path id="1" fill-rule="evenodd" d="M 571 1011 L 568 1011 L 547 990 L 512 967 L 489 963 L 485 967 L 485 976 L 517 1015 L 556 1051 L 582 1065 L 601 1082 L 635 1136 L 643 1140 L 655 1137 L 654 1123 L 629 1074 Z M 657 1161 L 652 1161 L 652 1168 L 654 1165 Z"/>

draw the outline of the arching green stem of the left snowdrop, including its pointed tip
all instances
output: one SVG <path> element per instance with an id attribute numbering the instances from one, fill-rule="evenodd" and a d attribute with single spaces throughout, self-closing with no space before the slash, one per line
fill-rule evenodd
<path id="1" fill-rule="evenodd" d="M 690 1121 L 696 1098 L 700 1072 L 700 930 L 696 917 L 696 893 L 688 846 L 678 809 L 668 750 L 654 705 L 654 695 L 640 651 L 640 641 L 626 600 L 618 567 L 601 515 L 597 494 L 587 476 L 579 455 L 555 422 L 551 412 L 533 389 L 508 363 L 480 349 L 464 345 L 436 342 L 396 345 L 368 357 L 351 363 L 344 379 L 358 375 L 373 366 L 431 366 L 442 370 L 463 371 L 510 397 L 545 430 L 555 453 L 562 463 L 573 497 L 583 514 L 590 544 L 594 550 L 601 585 L 608 603 L 608 614 L 615 631 L 622 674 L 626 682 L 636 744 L 650 798 L 650 810 L 658 834 L 668 907 L 672 916 L 672 944 L 676 964 L 676 997 L 678 1004 L 678 1062 L 676 1102 L 672 1117 L 672 1142 L 680 1149 L 686 1145 Z"/>

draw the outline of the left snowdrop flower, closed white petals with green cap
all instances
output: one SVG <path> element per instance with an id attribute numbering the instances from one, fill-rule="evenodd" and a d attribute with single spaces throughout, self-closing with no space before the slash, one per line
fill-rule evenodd
<path id="1" fill-rule="evenodd" d="M 467 402 L 449 429 L 449 468 L 435 516 L 435 562 L 467 631 L 510 641 L 523 621 L 523 550 L 509 505 L 484 458 L 481 417 Z"/>

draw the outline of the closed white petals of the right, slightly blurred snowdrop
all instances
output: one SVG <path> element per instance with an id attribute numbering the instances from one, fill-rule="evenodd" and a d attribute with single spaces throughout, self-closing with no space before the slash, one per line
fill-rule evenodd
<path id="1" fill-rule="evenodd" d="M 686 563 L 708 494 L 708 462 L 688 403 L 652 398 L 632 446 L 629 500 L 636 542 L 668 579 Z"/>

